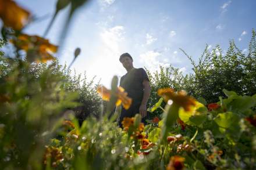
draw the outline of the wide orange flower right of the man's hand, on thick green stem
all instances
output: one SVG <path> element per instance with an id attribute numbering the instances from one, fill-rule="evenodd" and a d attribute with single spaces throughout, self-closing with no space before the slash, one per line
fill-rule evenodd
<path id="1" fill-rule="evenodd" d="M 172 100 L 178 106 L 183 107 L 184 110 L 190 111 L 190 106 L 195 106 L 195 99 L 187 96 L 185 91 L 175 92 L 171 88 L 164 88 L 158 90 L 158 95 L 163 97 L 163 100 L 167 103 L 168 100 Z"/>

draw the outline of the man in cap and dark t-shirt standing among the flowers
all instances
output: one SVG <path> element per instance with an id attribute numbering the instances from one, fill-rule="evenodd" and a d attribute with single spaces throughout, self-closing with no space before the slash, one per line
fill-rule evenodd
<path id="1" fill-rule="evenodd" d="M 143 68 L 133 67 L 133 58 L 129 53 L 123 53 L 119 61 L 125 67 L 127 73 L 120 79 L 120 86 L 125 89 L 132 103 L 128 110 L 122 107 L 118 119 L 118 125 L 122 126 L 123 118 L 134 117 L 137 113 L 141 114 L 142 122 L 145 124 L 147 117 L 147 102 L 150 98 L 150 82 L 148 75 Z"/>

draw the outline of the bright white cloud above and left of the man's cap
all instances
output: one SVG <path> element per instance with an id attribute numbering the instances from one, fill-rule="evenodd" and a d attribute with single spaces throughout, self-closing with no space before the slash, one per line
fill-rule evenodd
<path id="1" fill-rule="evenodd" d="M 100 34 L 105 46 L 113 52 L 117 52 L 119 49 L 119 41 L 123 39 L 123 34 L 125 33 L 123 30 L 123 26 L 116 26 L 104 30 Z"/>

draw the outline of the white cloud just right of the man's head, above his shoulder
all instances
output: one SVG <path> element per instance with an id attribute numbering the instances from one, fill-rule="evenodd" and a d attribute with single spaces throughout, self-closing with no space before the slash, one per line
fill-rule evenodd
<path id="1" fill-rule="evenodd" d="M 168 67 L 169 64 L 166 62 L 161 62 L 158 57 L 162 56 L 159 52 L 154 52 L 153 50 L 149 50 L 139 56 L 140 62 L 143 62 L 145 67 L 147 67 L 150 71 L 156 71 L 159 69 L 159 66 Z"/>

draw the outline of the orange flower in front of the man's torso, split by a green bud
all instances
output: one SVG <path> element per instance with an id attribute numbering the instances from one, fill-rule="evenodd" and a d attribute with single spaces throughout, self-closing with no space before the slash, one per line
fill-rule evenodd
<path id="1" fill-rule="evenodd" d="M 97 89 L 97 92 L 101 94 L 102 99 L 109 101 L 111 98 L 111 90 L 105 88 L 105 86 L 101 86 Z M 122 106 L 127 110 L 131 106 L 131 98 L 127 97 L 127 93 L 125 89 L 119 87 L 116 93 L 114 94 L 118 97 L 116 101 L 116 106 L 119 106 L 122 103 Z"/>

